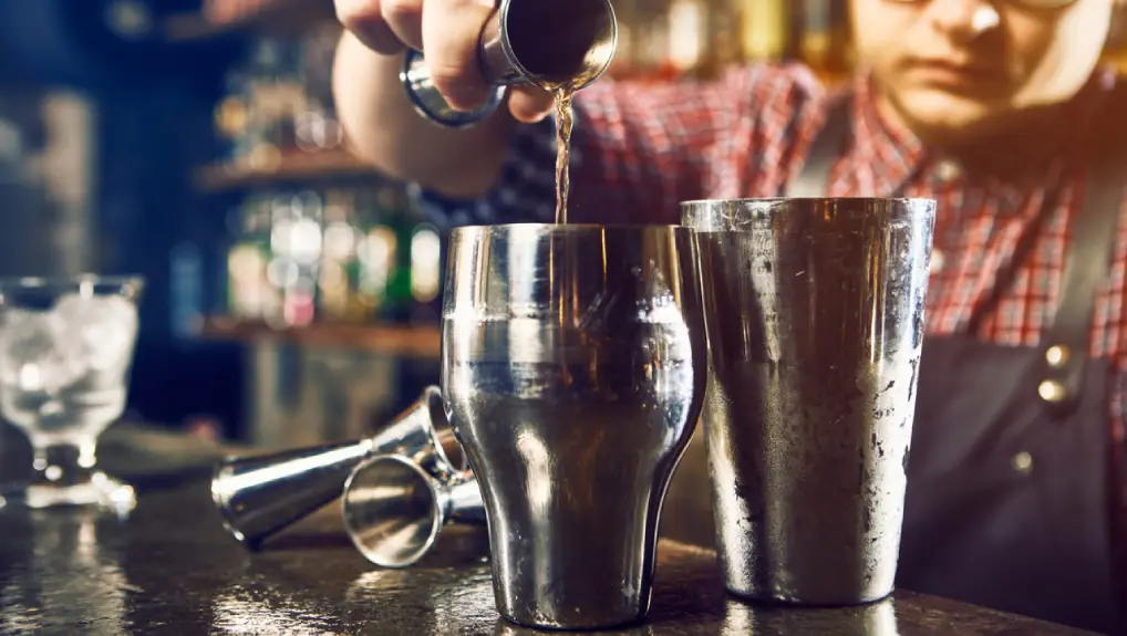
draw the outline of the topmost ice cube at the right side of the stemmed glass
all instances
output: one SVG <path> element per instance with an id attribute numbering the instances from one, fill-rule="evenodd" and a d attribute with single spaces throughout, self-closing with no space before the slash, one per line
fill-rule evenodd
<path id="1" fill-rule="evenodd" d="M 136 305 L 121 296 L 63 296 L 52 312 L 65 325 L 66 348 L 95 371 L 117 370 L 133 353 Z"/>

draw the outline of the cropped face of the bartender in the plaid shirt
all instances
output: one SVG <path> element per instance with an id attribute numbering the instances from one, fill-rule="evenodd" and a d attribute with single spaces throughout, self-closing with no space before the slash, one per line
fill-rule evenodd
<path id="1" fill-rule="evenodd" d="M 1122 0 L 853 0 L 858 53 L 895 115 L 974 135 L 1073 97 Z"/>

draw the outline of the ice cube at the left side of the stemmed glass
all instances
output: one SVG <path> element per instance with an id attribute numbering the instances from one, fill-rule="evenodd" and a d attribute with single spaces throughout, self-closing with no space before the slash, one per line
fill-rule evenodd
<path id="1" fill-rule="evenodd" d="M 86 373 L 66 349 L 63 324 L 53 313 L 7 310 L 0 321 L 0 379 L 28 393 L 57 393 Z"/>

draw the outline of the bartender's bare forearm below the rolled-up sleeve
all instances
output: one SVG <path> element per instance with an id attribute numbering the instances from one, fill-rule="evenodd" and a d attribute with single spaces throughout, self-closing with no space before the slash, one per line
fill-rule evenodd
<path id="1" fill-rule="evenodd" d="M 417 114 L 399 82 L 402 55 L 382 55 L 348 32 L 337 46 L 334 97 L 350 150 L 378 170 L 449 197 L 479 197 L 497 181 L 515 122 L 505 109 L 464 131 Z"/>

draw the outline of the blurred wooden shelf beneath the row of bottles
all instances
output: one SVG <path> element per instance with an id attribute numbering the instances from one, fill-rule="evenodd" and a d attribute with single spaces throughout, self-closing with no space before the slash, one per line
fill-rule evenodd
<path id="1" fill-rule="evenodd" d="M 360 349 L 384 356 L 437 360 L 442 337 L 437 326 L 314 323 L 278 328 L 261 321 L 210 316 L 201 335 L 240 342 L 289 342 L 311 347 Z"/>

